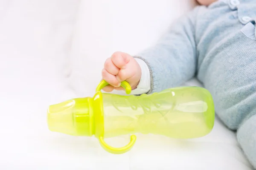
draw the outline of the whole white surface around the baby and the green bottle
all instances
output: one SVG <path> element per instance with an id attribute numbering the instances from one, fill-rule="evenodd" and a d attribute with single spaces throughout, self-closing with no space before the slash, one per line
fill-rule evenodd
<path id="1" fill-rule="evenodd" d="M 92 96 L 107 57 L 153 44 L 193 4 L 0 0 L 0 169 L 250 170 L 235 133 L 218 118 L 212 133 L 200 139 L 136 134 L 133 149 L 122 155 L 105 152 L 93 137 L 48 130 L 49 105 Z M 128 141 L 107 140 L 114 146 Z"/>

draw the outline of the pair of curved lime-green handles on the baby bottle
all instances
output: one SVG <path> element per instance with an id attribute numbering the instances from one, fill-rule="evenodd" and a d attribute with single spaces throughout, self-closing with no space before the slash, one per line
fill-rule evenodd
<path id="1" fill-rule="evenodd" d="M 106 82 L 105 80 L 102 80 L 99 85 L 96 88 L 96 91 L 101 91 L 102 88 L 104 88 L 106 85 L 109 85 L 108 82 Z M 125 89 L 126 94 L 130 94 L 131 93 L 131 86 L 129 85 L 128 82 L 123 81 L 121 82 L 121 86 Z M 120 154 L 120 153 L 125 153 L 128 152 L 131 147 L 134 145 L 136 141 L 136 136 L 135 135 L 131 135 L 131 140 L 130 142 L 124 146 L 124 147 L 111 147 L 110 145 L 108 145 L 105 141 L 103 136 L 99 136 L 99 143 L 101 144 L 101 146 L 108 152 L 110 153 L 115 153 L 115 154 Z"/>

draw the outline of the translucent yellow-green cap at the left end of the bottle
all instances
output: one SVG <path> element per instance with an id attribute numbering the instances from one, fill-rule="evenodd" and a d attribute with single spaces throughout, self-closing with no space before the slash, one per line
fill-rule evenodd
<path id="1" fill-rule="evenodd" d="M 55 105 L 47 110 L 49 130 L 73 136 L 91 136 L 92 113 L 90 98 L 70 99 Z"/>

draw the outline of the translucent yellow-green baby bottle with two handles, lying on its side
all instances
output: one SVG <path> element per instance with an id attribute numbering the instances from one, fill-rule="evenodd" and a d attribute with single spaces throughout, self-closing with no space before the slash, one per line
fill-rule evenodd
<path id="1" fill-rule="evenodd" d="M 51 105 L 47 111 L 49 130 L 73 136 L 95 136 L 110 153 L 125 153 L 136 136 L 124 147 L 109 146 L 104 138 L 153 133 L 188 139 L 205 136 L 213 128 L 215 111 L 212 96 L 205 88 L 177 87 L 159 93 L 122 96 L 102 93 L 102 80 L 93 97 L 70 99 Z M 122 82 L 127 94 L 128 82 Z"/>

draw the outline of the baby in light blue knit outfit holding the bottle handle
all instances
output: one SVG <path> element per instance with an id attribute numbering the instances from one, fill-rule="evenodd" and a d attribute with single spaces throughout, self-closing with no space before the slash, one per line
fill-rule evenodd
<path id="1" fill-rule="evenodd" d="M 256 0 L 198 0 L 202 6 L 173 24 L 137 56 L 115 52 L 105 62 L 106 92 L 151 94 L 196 77 L 212 94 L 218 117 L 256 168 Z"/>

